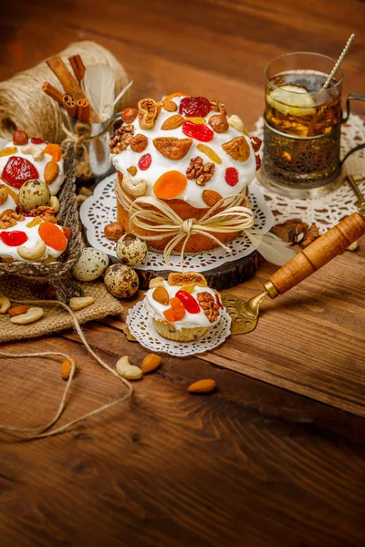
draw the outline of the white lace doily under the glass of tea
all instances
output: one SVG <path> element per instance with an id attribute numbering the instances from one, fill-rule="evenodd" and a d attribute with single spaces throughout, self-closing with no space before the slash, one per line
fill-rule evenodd
<path id="1" fill-rule="evenodd" d="M 263 139 L 264 120 L 256 122 L 255 135 Z M 341 129 L 341 158 L 356 145 L 365 142 L 365 125 L 360 116 L 350 114 L 349 121 Z M 343 176 L 347 174 L 365 175 L 365 149 L 355 152 L 345 161 L 342 170 Z M 365 193 L 365 181 L 360 181 L 359 190 Z M 281 224 L 289 219 L 298 218 L 309 225 L 315 223 L 320 233 L 327 232 L 337 224 L 344 216 L 357 211 L 357 198 L 348 183 L 344 182 L 338 190 L 316 199 L 297 200 L 277 195 L 273 191 L 264 188 L 257 179 L 254 181 L 263 191 L 270 209 L 275 212 L 275 224 Z M 252 188 L 252 186 L 251 186 Z"/>

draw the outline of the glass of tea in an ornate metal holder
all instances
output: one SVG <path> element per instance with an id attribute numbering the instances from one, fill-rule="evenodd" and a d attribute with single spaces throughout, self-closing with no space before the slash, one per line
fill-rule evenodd
<path id="1" fill-rule="evenodd" d="M 317 53 L 289 53 L 265 69 L 264 156 L 260 181 L 294 198 L 323 195 L 342 182 L 339 159 L 343 72 Z"/>

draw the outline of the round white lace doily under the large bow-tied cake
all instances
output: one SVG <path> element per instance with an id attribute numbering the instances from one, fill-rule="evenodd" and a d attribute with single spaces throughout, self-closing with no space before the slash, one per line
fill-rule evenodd
<path id="1" fill-rule="evenodd" d="M 86 227 L 89 244 L 110 254 L 116 256 L 115 242 L 110 241 L 104 236 L 104 226 L 117 219 L 117 199 L 114 193 L 114 182 L 116 175 L 110 175 L 99 182 L 94 194 L 84 201 L 80 208 L 81 221 Z M 258 186 L 249 187 L 249 200 L 252 210 L 255 213 L 254 228 L 268 232 L 273 226 L 274 218 L 266 203 L 263 193 Z M 224 249 L 214 249 L 209 253 L 185 254 L 184 267 L 191 272 L 206 272 L 212 270 L 221 264 L 232 262 L 238 258 L 248 256 L 255 251 L 245 235 L 239 235 L 235 241 L 228 244 L 231 253 Z M 180 271 L 180 254 L 171 255 L 169 270 Z M 138 266 L 139 270 L 166 270 L 167 266 L 163 260 L 162 253 L 147 253 L 144 263 Z"/>

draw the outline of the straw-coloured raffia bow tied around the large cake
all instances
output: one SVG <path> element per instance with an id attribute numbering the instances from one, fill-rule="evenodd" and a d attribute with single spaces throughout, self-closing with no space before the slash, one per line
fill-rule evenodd
<path id="1" fill-rule="evenodd" d="M 201 234 L 231 253 L 231 248 L 214 236 L 215 233 L 244 232 L 255 249 L 271 263 L 284 265 L 295 252 L 287 247 L 287 244 L 273 233 L 263 232 L 253 228 L 255 222 L 254 212 L 242 205 L 245 202 L 245 194 L 226 196 L 217 201 L 213 207 L 207 209 L 203 217 L 183 220 L 172 208 L 162 200 L 152 196 L 137 198 L 134 201 L 120 190 L 118 182 L 115 191 L 121 205 L 130 214 L 131 229 L 139 228 L 148 234 L 139 237 L 146 242 L 171 238 L 163 251 L 165 263 L 170 266 L 170 255 L 179 243 L 182 244 L 180 252 L 181 268 L 183 270 L 183 256 L 186 243 L 193 234 Z M 224 208 L 224 211 L 220 209 Z"/>

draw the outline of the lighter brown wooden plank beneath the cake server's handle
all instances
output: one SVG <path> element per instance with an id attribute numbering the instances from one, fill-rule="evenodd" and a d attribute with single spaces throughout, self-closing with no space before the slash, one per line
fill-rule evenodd
<path id="1" fill-rule="evenodd" d="M 357 253 L 343 253 L 289 293 L 267 298 L 253 332 L 198 357 L 365 417 L 364 252 L 365 237 Z M 223 293 L 247 300 L 275 270 L 265 263 Z M 125 303 L 123 320 L 132 305 Z"/>

